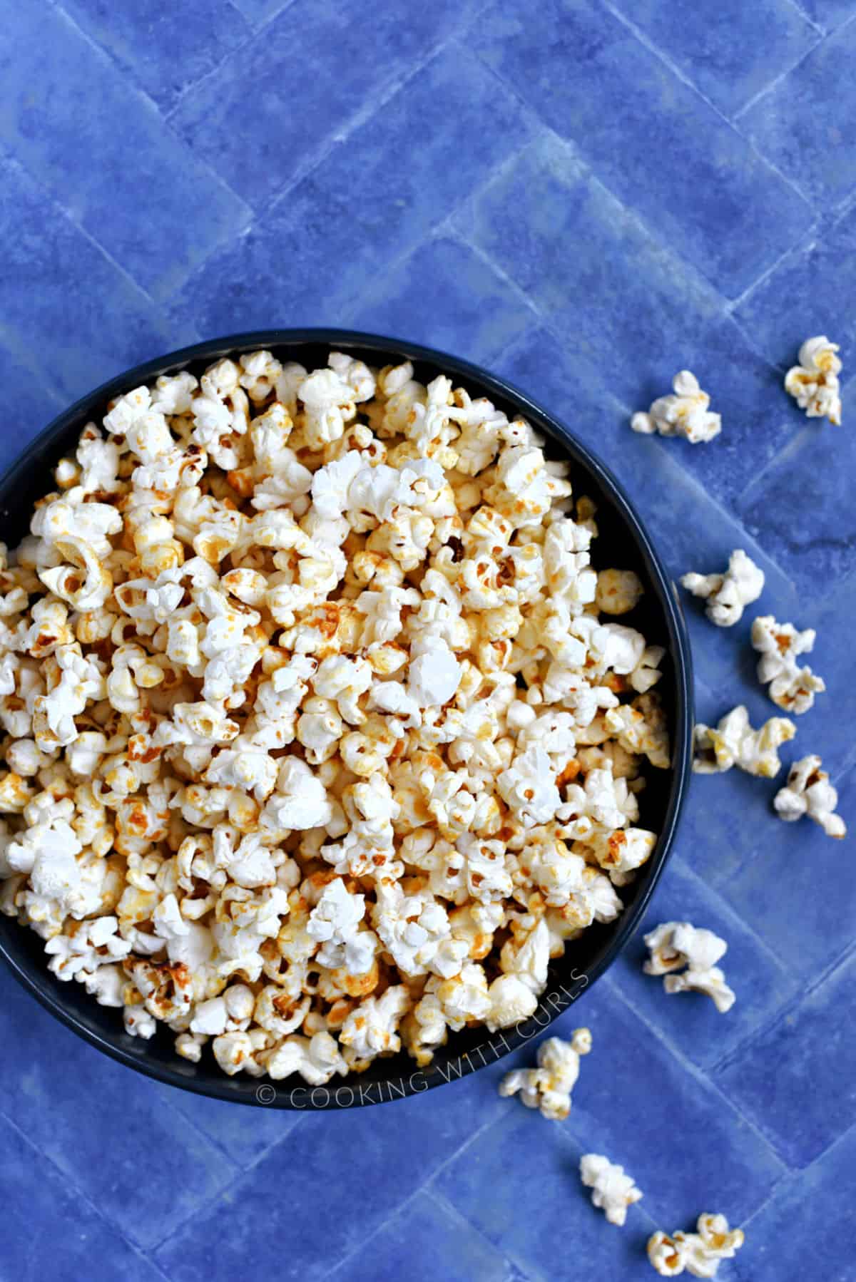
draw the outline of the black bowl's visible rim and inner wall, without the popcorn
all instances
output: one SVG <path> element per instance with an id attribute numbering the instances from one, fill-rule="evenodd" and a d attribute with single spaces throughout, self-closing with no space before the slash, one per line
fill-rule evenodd
<path id="1" fill-rule="evenodd" d="M 0 954 L 21 983 L 76 1033 L 130 1068 L 184 1090 L 240 1104 L 284 1109 L 380 1104 L 465 1077 L 535 1037 L 603 974 L 628 944 L 669 856 L 689 778 L 693 722 L 689 641 L 678 592 L 629 499 L 615 477 L 567 427 L 524 392 L 477 365 L 417 344 L 370 333 L 344 329 L 239 333 L 184 347 L 112 378 L 54 419 L 0 481 L 0 537 L 10 547 L 17 546 L 28 529 L 33 503 L 53 488 L 51 468 L 74 447 L 82 427 L 92 418 L 100 419 L 112 397 L 140 383 L 149 383 L 159 374 L 186 367 L 199 373 L 219 356 L 259 347 L 272 350 L 282 360 L 299 360 L 309 368 L 325 365 L 331 349 L 375 365 L 407 358 L 413 362 L 416 377 L 422 382 L 443 370 L 453 374 L 470 392 L 489 396 L 509 417 L 522 414 L 548 437 L 548 442 L 552 440 L 556 458 L 569 458 L 574 464 L 571 479 L 575 492 L 590 495 L 599 509 L 595 565 L 617 565 L 634 569 L 640 576 L 647 592 L 630 622 L 649 642 L 666 647 L 663 676 L 657 690 L 669 717 L 672 764 L 669 770 L 649 770 L 648 785 L 640 795 L 639 822 L 658 832 L 660 837 L 635 882 L 622 888 L 624 913 L 608 926 L 589 927 L 579 940 L 569 944 L 565 956 L 551 964 L 548 986 L 531 1019 L 493 1036 L 485 1028 L 453 1033 L 425 1069 L 417 1069 L 413 1060 L 402 1053 L 375 1060 L 359 1076 L 338 1079 L 340 1085 L 334 1081 L 314 1090 L 300 1078 L 273 1083 L 244 1074 L 226 1077 L 210 1055 L 203 1055 L 199 1064 L 177 1055 L 173 1035 L 168 1029 L 159 1029 L 150 1041 L 128 1036 L 118 1010 L 96 1005 L 81 985 L 53 976 L 45 964 L 42 940 L 14 918 L 0 915 Z M 628 437 L 629 445 L 630 440 Z"/>

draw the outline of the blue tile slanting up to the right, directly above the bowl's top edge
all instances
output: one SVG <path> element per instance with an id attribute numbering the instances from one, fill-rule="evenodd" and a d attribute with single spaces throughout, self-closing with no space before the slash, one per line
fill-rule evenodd
<path id="1" fill-rule="evenodd" d="M 470 191 L 529 132 L 511 91 L 452 44 L 246 236 L 214 253 L 178 292 L 176 310 L 201 333 L 336 324 L 441 221 L 443 167 L 454 158 L 453 181 Z M 391 159 L 400 155 L 407 164 Z"/>

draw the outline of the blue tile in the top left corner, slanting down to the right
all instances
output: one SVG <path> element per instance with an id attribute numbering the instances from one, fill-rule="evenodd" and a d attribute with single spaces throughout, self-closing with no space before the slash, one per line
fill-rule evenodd
<path id="1" fill-rule="evenodd" d="M 142 288 L 171 292 L 241 227 L 246 206 L 60 10 L 36 0 L 6 21 L 0 74 L 14 154 Z M 39 50 L 36 68 L 22 46 Z"/>

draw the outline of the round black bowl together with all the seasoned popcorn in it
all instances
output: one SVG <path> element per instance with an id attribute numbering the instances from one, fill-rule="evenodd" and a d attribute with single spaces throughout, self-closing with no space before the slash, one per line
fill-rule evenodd
<path id="1" fill-rule="evenodd" d="M 0 953 L 99 1049 L 384 1103 L 625 945 L 689 649 L 630 503 L 527 396 L 404 341 L 234 336 L 73 405 L 0 512 Z"/>

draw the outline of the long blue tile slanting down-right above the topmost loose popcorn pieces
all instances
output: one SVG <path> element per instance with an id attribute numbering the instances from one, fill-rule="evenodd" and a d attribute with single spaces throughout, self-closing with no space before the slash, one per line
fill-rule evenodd
<path id="1" fill-rule="evenodd" d="M 527 0 L 502 0 L 476 49 L 726 295 L 806 231 L 800 195 L 598 0 L 548 0 L 538 22 Z"/>

